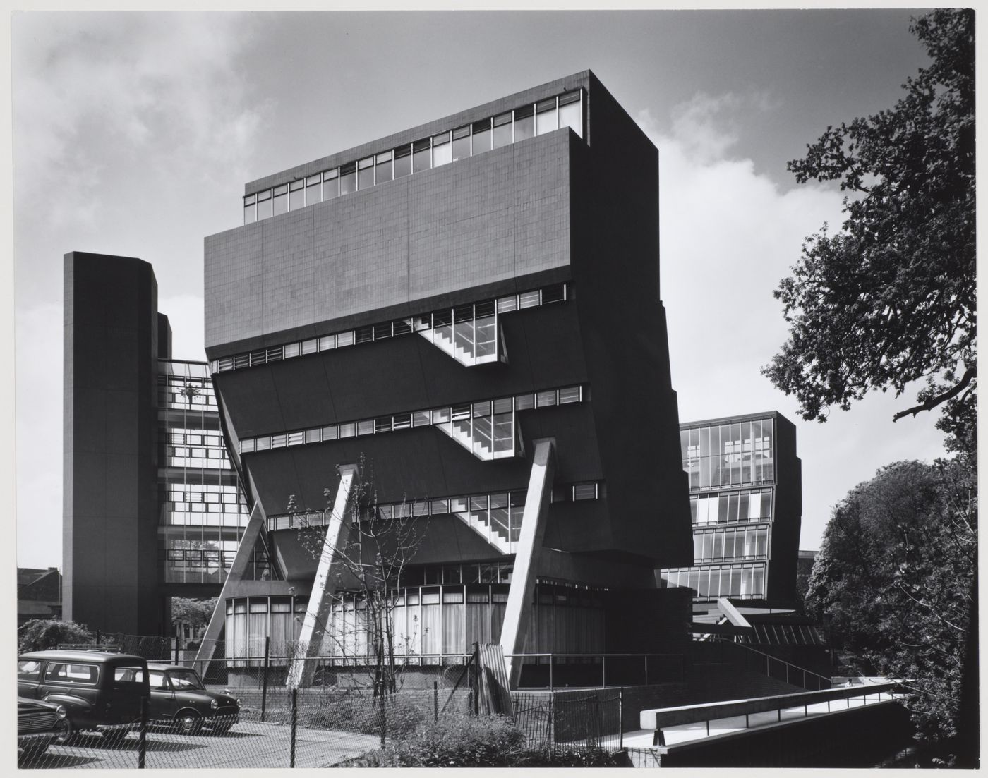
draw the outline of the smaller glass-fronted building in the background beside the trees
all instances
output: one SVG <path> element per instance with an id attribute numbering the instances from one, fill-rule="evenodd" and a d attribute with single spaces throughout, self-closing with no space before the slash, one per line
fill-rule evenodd
<path id="1" fill-rule="evenodd" d="M 793 607 L 802 516 L 795 427 L 777 412 L 691 422 L 680 427 L 680 452 L 694 564 L 663 569 L 661 580 L 692 589 L 695 612 L 721 597 Z"/>

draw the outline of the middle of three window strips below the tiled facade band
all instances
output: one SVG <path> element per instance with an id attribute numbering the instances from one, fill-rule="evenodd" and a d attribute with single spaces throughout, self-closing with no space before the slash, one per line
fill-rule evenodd
<path id="1" fill-rule="evenodd" d="M 445 406 L 427 411 L 382 416 L 377 419 L 364 419 L 359 422 L 345 422 L 339 425 L 298 429 L 293 432 L 283 432 L 260 437 L 246 437 L 240 441 L 240 453 L 252 451 L 267 451 L 273 448 L 285 448 L 292 445 L 325 442 L 346 437 L 355 437 L 382 432 L 397 431 L 416 427 L 439 427 L 452 435 L 451 425 L 469 422 L 473 419 L 488 419 L 525 411 L 534 408 L 548 408 L 556 405 L 579 403 L 589 397 L 584 397 L 586 387 L 566 386 L 560 389 L 547 389 L 541 392 L 530 392 L 515 397 L 502 397 L 497 400 L 484 400 L 479 403 L 464 403 L 462 405 Z"/>

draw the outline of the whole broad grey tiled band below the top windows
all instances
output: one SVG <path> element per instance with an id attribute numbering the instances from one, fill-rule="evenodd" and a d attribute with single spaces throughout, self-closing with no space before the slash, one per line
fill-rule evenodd
<path id="1" fill-rule="evenodd" d="M 568 129 L 206 238 L 206 348 L 569 263 Z"/>

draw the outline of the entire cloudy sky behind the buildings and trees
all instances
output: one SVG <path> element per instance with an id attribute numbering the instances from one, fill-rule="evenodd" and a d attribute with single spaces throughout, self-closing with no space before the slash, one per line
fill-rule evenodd
<path id="1" fill-rule="evenodd" d="M 662 297 L 680 419 L 777 409 L 797 425 L 801 548 L 934 418 L 876 395 L 824 425 L 760 374 L 772 296 L 833 187 L 785 162 L 890 108 L 925 64 L 895 10 L 42 13 L 12 18 L 18 564 L 61 566 L 62 255 L 154 266 L 174 355 L 202 359 L 203 238 L 251 179 L 585 68 L 660 152 Z"/>

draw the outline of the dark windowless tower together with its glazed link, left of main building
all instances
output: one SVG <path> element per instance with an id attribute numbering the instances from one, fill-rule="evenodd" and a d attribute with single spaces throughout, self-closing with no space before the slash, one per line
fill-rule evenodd
<path id="1" fill-rule="evenodd" d="M 64 280 L 64 617 L 168 635 L 169 598 L 217 595 L 246 522 L 212 384 L 171 359 L 148 263 L 71 252 Z"/>

